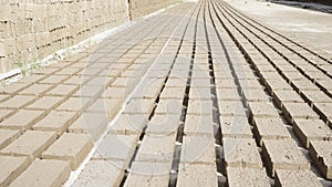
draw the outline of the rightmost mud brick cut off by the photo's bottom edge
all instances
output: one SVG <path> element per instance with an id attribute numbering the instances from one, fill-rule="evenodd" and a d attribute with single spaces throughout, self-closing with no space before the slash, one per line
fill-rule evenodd
<path id="1" fill-rule="evenodd" d="M 312 186 L 322 187 L 322 184 L 311 170 L 276 170 L 276 187 Z"/>

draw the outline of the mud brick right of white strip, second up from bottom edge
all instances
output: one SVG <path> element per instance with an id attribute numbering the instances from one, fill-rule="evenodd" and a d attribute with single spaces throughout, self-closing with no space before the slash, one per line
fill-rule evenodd
<path id="1" fill-rule="evenodd" d="M 135 152 L 138 135 L 115 135 L 107 134 L 97 146 L 93 159 L 122 160 L 128 167 Z"/>

